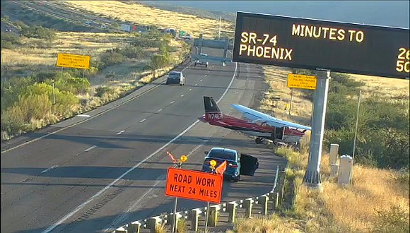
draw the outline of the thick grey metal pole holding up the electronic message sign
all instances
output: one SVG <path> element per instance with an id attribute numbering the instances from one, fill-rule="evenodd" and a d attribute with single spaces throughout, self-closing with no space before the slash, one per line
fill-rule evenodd
<path id="1" fill-rule="evenodd" d="M 315 101 L 313 102 L 312 135 L 310 138 L 310 153 L 307 160 L 307 170 L 303 183 L 315 189 L 322 190 L 320 177 L 320 159 L 324 136 L 324 117 L 326 115 L 327 92 L 329 90 L 330 71 L 317 71 Z"/>

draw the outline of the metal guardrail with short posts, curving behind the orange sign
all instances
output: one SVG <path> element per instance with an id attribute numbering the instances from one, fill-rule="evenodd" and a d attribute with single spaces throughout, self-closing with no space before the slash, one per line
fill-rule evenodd
<path id="1" fill-rule="evenodd" d="M 281 198 L 283 197 L 283 189 L 279 190 L 278 189 L 278 184 L 281 183 L 283 185 L 284 183 L 284 175 L 279 177 L 279 173 L 284 174 L 284 172 L 279 172 L 279 165 L 276 167 L 276 174 L 275 174 L 275 181 L 274 181 L 274 186 L 269 191 L 269 193 L 265 193 L 262 196 L 257 196 L 257 197 L 252 197 L 252 198 L 245 198 L 241 199 L 238 201 L 230 201 L 226 203 L 221 203 L 218 205 L 211 205 L 209 210 L 212 213 L 213 211 L 216 212 L 228 212 L 229 217 L 228 217 L 228 222 L 235 222 L 235 213 L 236 213 L 236 208 L 245 208 L 245 217 L 250 217 L 251 215 L 251 210 L 252 210 L 252 204 L 260 204 L 262 206 L 265 206 L 264 213 L 267 214 L 267 203 L 269 199 L 274 201 L 274 206 L 273 208 L 276 209 L 278 208 L 279 203 L 281 202 Z M 279 179 L 280 178 L 280 179 Z M 278 183 L 279 182 L 279 183 Z M 263 209 L 263 208 L 262 208 Z M 185 211 L 180 211 L 175 213 L 177 219 L 184 218 L 185 220 L 190 220 L 192 222 L 192 230 L 197 231 L 198 229 L 198 218 L 204 217 L 207 214 L 206 207 L 202 208 L 194 208 L 192 210 L 185 210 Z M 122 227 L 119 227 L 112 231 L 113 233 L 139 233 L 141 231 L 141 228 L 144 229 L 151 229 L 151 232 L 155 231 L 155 227 L 157 225 L 165 224 L 165 225 L 170 225 L 172 222 L 172 213 L 167 213 L 164 215 L 158 215 L 154 217 L 148 217 L 144 220 L 136 220 L 134 222 L 130 222 L 127 225 L 123 225 Z"/>

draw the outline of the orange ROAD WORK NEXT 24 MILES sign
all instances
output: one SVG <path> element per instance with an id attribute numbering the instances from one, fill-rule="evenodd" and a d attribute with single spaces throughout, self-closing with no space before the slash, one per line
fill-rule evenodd
<path id="1" fill-rule="evenodd" d="M 222 184 L 220 174 L 168 167 L 165 196 L 221 203 Z"/>

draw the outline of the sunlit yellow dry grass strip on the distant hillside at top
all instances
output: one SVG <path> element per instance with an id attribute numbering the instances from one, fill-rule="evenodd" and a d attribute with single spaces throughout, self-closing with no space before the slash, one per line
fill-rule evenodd
<path id="1" fill-rule="evenodd" d="M 198 37 L 213 37 L 218 32 L 218 20 L 199 18 L 185 13 L 151 8 L 141 4 L 125 4 L 120 1 L 64 1 L 74 8 L 96 14 L 119 18 L 141 25 L 156 25 L 160 28 L 178 28 Z M 221 23 L 223 30 L 232 30 L 230 23 Z"/>

